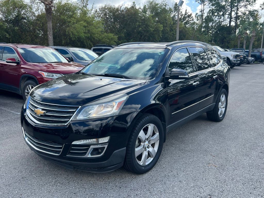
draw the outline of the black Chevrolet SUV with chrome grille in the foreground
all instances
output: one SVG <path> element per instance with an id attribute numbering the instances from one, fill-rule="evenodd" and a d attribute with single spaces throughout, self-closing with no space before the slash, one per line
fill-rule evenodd
<path id="1" fill-rule="evenodd" d="M 145 173 L 168 131 L 203 113 L 224 119 L 229 73 L 206 43 L 122 44 L 32 89 L 23 137 L 40 157 L 70 169 Z"/>

